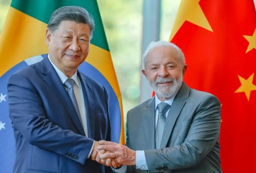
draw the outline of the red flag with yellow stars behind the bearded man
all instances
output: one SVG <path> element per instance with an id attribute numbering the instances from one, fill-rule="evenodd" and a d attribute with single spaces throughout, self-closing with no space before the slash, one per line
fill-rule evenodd
<path id="1" fill-rule="evenodd" d="M 256 172 L 256 12 L 253 0 L 181 0 L 169 41 L 184 81 L 221 102 L 223 172 Z"/>

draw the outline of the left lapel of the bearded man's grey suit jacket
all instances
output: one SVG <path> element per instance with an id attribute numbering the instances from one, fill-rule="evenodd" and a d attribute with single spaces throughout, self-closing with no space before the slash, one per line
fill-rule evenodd
<path id="1" fill-rule="evenodd" d="M 151 98 L 145 110 L 142 110 L 142 124 L 147 140 L 148 149 L 155 149 L 155 97 Z"/>

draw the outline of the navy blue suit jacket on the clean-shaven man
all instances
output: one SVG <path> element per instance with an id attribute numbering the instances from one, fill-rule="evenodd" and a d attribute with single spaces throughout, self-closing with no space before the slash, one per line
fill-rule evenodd
<path id="1" fill-rule="evenodd" d="M 93 139 L 111 140 L 108 94 L 95 80 L 78 75 L 88 137 L 48 57 L 11 76 L 7 90 L 16 145 L 13 172 L 102 173 L 108 169 L 87 159 Z"/>

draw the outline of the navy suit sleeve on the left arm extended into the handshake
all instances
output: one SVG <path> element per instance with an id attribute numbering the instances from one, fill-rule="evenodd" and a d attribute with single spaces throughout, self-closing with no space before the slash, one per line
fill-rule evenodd
<path id="1" fill-rule="evenodd" d="M 33 78 L 36 77 L 38 76 L 33 76 Z M 41 82 L 37 80 L 38 83 Z M 15 134 L 19 136 L 19 140 L 23 140 L 20 142 L 30 143 L 84 164 L 93 140 L 59 126 L 59 124 L 68 124 L 70 121 L 62 117 L 64 116 L 62 107 L 54 108 L 51 103 L 47 106 L 43 105 L 42 97 L 46 96 L 39 94 L 35 86 L 41 84 L 38 83 L 35 84 L 26 75 L 20 74 L 14 74 L 9 79 L 7 84 L 9 112 Z M 45 107 L 58 110 L 59 114 L 53 114 L 49 119 Z"/>

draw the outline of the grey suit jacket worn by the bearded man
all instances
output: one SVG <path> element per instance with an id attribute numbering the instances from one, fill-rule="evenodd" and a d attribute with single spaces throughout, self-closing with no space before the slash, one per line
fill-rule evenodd
<path id="1" fill-rule="evenodd" d="M 127 113 L 126 132 L 129 148 L 145 150 L 148 172 L 221 172 L 220 102 L 209 93 L 182 84 L 169 109 L 161 150 L 155 149 L 155 98 Z"/>

